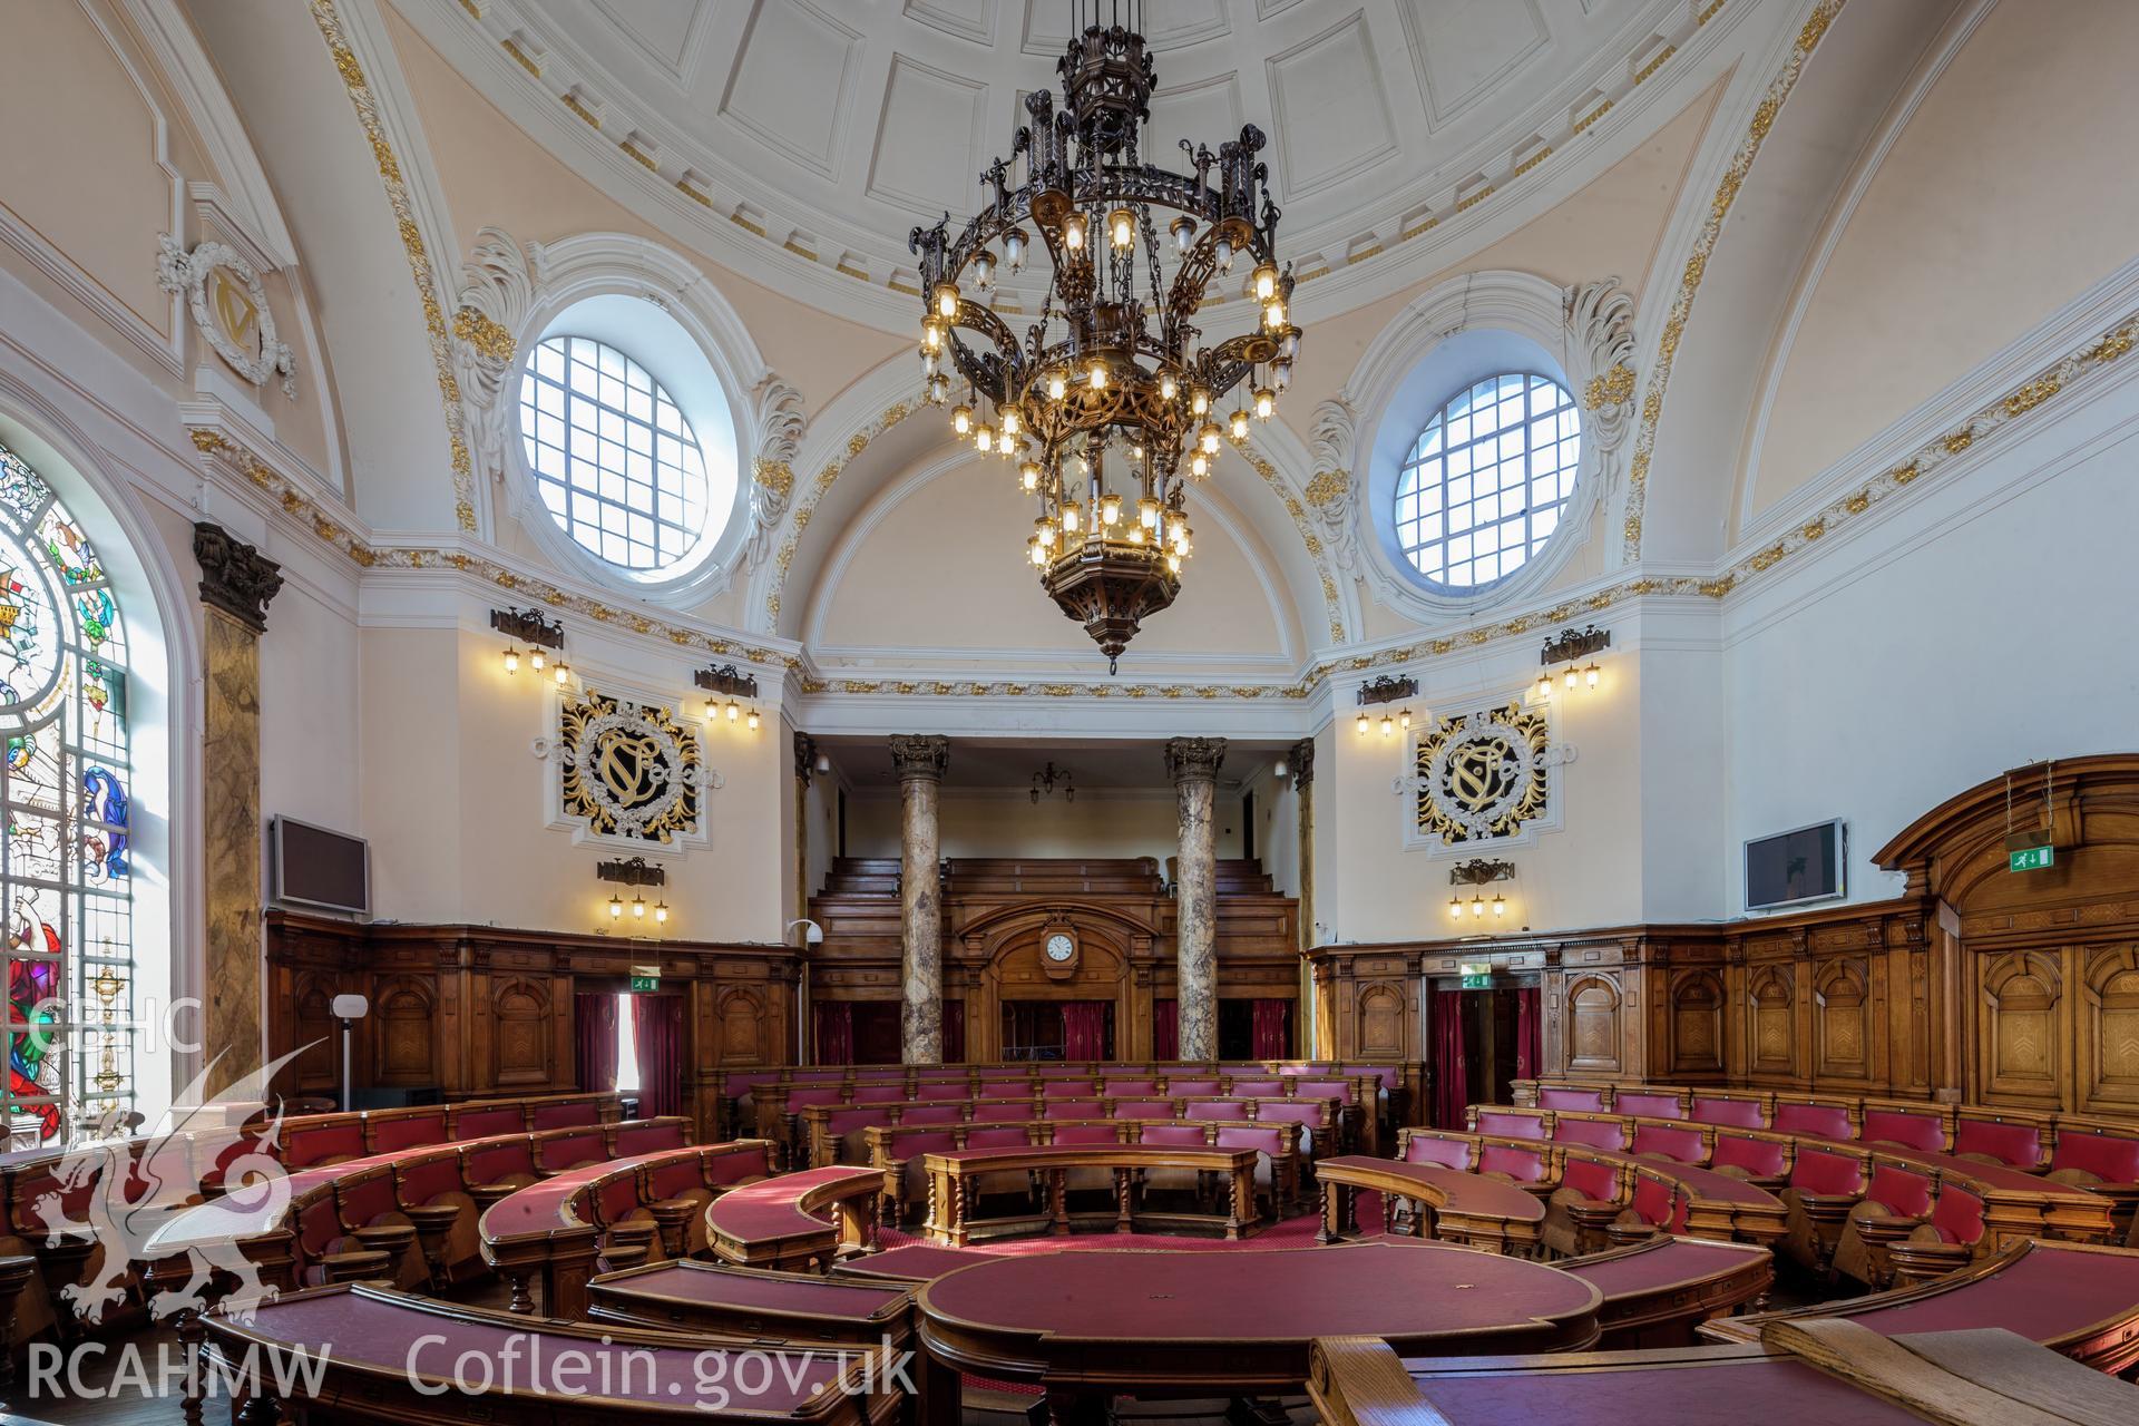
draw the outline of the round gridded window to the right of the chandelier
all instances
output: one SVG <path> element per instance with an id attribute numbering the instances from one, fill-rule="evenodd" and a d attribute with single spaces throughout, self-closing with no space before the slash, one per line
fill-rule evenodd
<path id="1" fill-rule="evenodd" d="M 1581 468 L 1581 413 L 1551 376 L 1510 372 L 1457 391 L 1397 477 L 1397 545 L 1429 584 L 1482 590 L 1559 528 Z"/>

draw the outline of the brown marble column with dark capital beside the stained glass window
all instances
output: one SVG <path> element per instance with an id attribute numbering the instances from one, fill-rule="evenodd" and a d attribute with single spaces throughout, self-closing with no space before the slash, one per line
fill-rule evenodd
<path id="1" fill-rule="evenodd" d="M 201 1063 L 216 1092 L 261 1067 L 261 654 L 267 601 L 282 588 L 274 560 L 218 524 L 193 526 L 207 616 L 201 842 L 207 943 L 201 981 Z M 222 1058 L 216 1060 L 216 1054 Z"/>

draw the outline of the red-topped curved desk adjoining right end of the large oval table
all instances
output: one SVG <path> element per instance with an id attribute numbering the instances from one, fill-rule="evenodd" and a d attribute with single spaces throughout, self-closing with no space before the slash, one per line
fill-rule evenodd
<path id="1" fill-rule="evenodd" d="M 1690 1347 L 1707 1319 L 1758 1302 L 1775 1281 L 1765 1246 L 1664 1234 L 1553 1266 L 1604 1293 L 1598 1347 Z"/>

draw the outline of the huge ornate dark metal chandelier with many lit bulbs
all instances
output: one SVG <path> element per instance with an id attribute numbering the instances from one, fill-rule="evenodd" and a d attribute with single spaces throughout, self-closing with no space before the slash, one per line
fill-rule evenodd
<path id="1" fill-rule="evenodd" d="M 956 237 L 945 214 L 907 242 L 920 254 L 928 400 L 952 404 L 965 387 L 952 430 L 1016 468 L 1037 502 L 1027 558 L 1112 671 L 1140 620 L 1181 592 L 1194 554 L 1185 485 L 1211 472 L 1228 425 L 1241 440 L 1249 419 L 1277 410 L 1301 329 L 1256 158 L 1262 130 L 1247 124 L 1215 154 L 1183 139 L 1194 173 L 1144 162 L 1157 75 L 1142 4 L 1108 2 L 1129 24 L 1099 26 L 1099 0 L 1076 0 L 1080 30 L 1055 64 L 1063 109 L 1048 90 L 1027 96 L 1010 160 L 980 173 L 982 210 Z M 1035 235 L 1050 272 L 1020 340 L 990 295 L 997 263 L 1022 272 Z M 1243 261 L 1256 325 L 1206 344 L 1196 316 Z"/>

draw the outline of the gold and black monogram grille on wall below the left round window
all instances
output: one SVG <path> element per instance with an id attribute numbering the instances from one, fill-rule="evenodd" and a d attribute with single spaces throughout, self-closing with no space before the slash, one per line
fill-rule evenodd
<path id="1" fill-rule="evenodd" d="M 586 836 L 704 840 L 697 733 L 659 703 L 584 691 L 558 706 L 558 797 Z"/>

